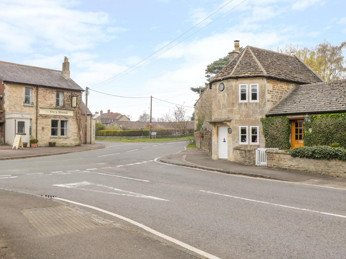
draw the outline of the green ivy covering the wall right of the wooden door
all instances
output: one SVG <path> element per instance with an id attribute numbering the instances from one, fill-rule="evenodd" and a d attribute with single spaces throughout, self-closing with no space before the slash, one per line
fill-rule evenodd
<path id="1" fill-rule="evenodd" d="M 337 142 L 346 148 L 346 113 L 310 115 L 310 120 L 304 123 L 304 146 L 329 146 Z"/>

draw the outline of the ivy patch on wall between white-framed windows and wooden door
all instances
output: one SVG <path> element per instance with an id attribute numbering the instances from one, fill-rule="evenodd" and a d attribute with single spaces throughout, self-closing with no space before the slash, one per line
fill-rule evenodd
<path id="1" fill-rule="evenodd" d="M 291 148 L 291 123 L 286 116 L 261 118 L 265 147 L 289 149 Z"/>

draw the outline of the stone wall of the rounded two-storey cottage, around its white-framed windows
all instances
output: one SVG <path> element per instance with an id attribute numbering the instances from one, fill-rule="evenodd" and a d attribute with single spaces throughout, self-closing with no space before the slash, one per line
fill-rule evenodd
<path id="1" fill-rule="evenodd" d="M 220 92 L 218 86 L 220 83 L 225 84 L 225 89 Z M 258 102 L 249 101 L 249 84 L 258 84 Z M 239 102 L 239 84 L 248 84 L 248 102 Z M 264 147 L 265 139 L 262 134 L 262 124 L 260 119 L 265 117 L 267 112 L 279 100 L 291 92 L 294 83 L 280 81 L 265 77 L 258 78 L 238 78 L 227 79 L 212 84 L 211 100 L 212 100 L 212 120 L 231 119 L 226 123 L 212 123 L 213 131 L 213 147 L 212 159 L 218 159 L 218 127 L 229 126 L 232 133 L 228 134 L 228 160 L 235 161 L 234 147 L 244 147 L 255 149 Z M 197 120 L 196 120 L 197 121 Z M 239 126 L 248 126 L 248 138 L 250 138 L 249 126 L 258 126 L 258 144 L 239 144 Z"/>

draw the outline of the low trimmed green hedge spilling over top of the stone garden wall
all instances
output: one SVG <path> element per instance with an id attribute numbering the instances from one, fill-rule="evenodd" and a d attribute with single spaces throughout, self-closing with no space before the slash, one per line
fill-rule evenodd
<path id="1" fill-rule="evenodd" d="M 346 161 L 346 149 L 330 146 L 302 146 L 289 150 L 293 157 L 306 157 L 311 159 L 339 159 Z"/>

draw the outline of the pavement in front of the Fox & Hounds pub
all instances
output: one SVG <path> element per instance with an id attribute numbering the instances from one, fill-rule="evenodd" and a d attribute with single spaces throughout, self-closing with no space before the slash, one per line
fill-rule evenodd
<path id="1" fill-rule="evenodd" d="M 0 160 L 24 159 L 29 157 L 49 156 L 58 154 L 68 154 L 103 148 L 105 145 L 101 143 L 87 144 L 72 147 L 24 147 L 12 149 L 10 145 L 0 145 Z"/>

